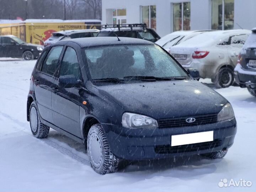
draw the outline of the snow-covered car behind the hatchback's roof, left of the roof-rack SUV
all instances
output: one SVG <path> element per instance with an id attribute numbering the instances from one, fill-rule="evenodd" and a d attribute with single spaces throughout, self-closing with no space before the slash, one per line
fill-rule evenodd
<path id="1" fill-rule="evenodd" d="M 59 31 L 53 32 L 52 37 L 47 39 L 44 42 L 44 45 L 47 46 L 52 43 L 56 43 L 58 41 L 64 41 L 67 39 L 76 39 L 76 38 L 84 38 L 84 37 L 96 37 L 100 30 L 93 29 L 93 30 L 66 30 L 66 31 Z"/>

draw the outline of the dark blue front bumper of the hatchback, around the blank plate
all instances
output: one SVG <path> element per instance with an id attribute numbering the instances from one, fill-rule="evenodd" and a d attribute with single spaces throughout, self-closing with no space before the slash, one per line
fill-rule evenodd
<path id="1" fill-rule="evenodd" d="M 103 124 L 110 149 L 118 158 L 126 160 L 163 159 L 174 156 L 204 154 L 233 145 L 236 134 L 236 120 L 202 126 L 127 129 Z M 214 131 L 214 141 L 171 147 L 171 135 Z"/>

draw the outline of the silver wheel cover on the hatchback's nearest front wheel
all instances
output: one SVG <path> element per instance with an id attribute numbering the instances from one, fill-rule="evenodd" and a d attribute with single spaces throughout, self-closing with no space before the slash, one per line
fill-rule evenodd
<path id="1" fill-rule="evenodd" d="M 100 167 L 103 162 L 103 150 L 100 136 L 92 133 L 89 138 L 89 153 L 91 163 L 96 167 Z"/>

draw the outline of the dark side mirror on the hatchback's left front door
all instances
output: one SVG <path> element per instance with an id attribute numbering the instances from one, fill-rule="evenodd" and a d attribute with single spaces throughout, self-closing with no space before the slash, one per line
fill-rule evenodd
<path id="1" fill-rule="evenodd" d="M 81 89 L 82 81 L 77 80 L 75 75 L 65 75 L 65 76 L 59 77 L 58 85 L 59 87 L 63 87 L 63 88 L 76 87 L 78 89 Z"/>

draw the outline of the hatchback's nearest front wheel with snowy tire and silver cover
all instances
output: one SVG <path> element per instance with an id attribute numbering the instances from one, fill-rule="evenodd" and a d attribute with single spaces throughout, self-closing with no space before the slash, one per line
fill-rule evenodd
<path id="1" fill-rule="evenodd" d="M 95 124 L 89 130 L 87 154 L 92 168 L 98 174 L 105 175 L 117 171 L 119 159 L 110 150 L 101 124 Z"/>

